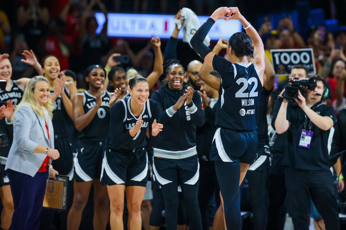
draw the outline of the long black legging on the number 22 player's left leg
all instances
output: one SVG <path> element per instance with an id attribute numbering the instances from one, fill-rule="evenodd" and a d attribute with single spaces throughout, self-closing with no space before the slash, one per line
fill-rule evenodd
<path id="1" fill-rule="evenodd" d="M 216 176 L 219 181 L 227 229 L 241 230 L 239 178 L 240 163 L 215 161 Z"/>

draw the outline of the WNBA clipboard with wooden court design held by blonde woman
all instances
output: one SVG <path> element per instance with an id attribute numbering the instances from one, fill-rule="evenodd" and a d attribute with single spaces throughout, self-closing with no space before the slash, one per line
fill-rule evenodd
<path id="1" fill-rule="evenodd" d="M 56 180 L 47 179 L 43 207 L 47 209 L 67 211 L 69 177 L 57 175 Z"/>

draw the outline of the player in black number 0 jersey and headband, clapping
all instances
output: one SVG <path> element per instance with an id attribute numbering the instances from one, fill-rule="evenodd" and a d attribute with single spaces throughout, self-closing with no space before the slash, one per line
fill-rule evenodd
<path id="1" fill-rule="evenodd" d="M 82 131 L 74 158 L 74 197 L 67 217 L 67 229 L 78 229 L 82 212 L 94 183 L 94 229 L 106 229 L 109 216 L 107 189 L 100 184 L 103 148 L 109 130 L 111 94 L 103 90 L 106 70 L 92 65 L 86 70 L 89 90 L 73 100 L 74 125 Z"/>

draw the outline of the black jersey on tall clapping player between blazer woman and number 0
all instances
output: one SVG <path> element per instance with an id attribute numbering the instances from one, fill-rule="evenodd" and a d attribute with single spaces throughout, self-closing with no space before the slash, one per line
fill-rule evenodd
<path id="1" fill-rule="evenodd" d="M 51 96 L 54 93 L 54 90 L 51 91 Z M 70 98 L 70 91 L 67 89 L 67 87 L 64 87 L 64 92 L 68 98 Z M 56 100 L 53 102 L 53 127 L 54 127 L 54 133 L 60 134 L 59 136 L 69 136 L 69 120 L 70 117 L 67 114 L 67 111 L 65 109 L 63 100 L 61 98 L 61 95 L 56 98 Z"/>

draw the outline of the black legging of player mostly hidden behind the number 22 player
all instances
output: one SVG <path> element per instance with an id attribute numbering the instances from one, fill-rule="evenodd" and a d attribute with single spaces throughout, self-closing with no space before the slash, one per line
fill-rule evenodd
<path id="1" fill-rule="evenodd" d="M 266 191 L 267 168 L 263 171 L 247 171 L 249 181 L 249 200 L 252 206 L 254 227 L 256 230 L 265 230 L 267 226 L 267 201 Z"/>

